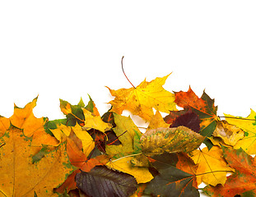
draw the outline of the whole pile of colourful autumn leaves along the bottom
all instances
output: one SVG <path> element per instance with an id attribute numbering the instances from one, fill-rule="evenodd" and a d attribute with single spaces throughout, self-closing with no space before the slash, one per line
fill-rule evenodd
<path id="1" fill-rule="evenodd" d="M 109 89 L 102 117 L 91 98 L 60 100 L 66 118 L 54 121 L 34 116 L 37 98 L 15 106 L 0 117 L 0 196 L 199 196 L 202 182 L 209 196 L 256 196 L 256 113 L 221 121 L 205 92 L 163 89 L 168 76 Z"/>

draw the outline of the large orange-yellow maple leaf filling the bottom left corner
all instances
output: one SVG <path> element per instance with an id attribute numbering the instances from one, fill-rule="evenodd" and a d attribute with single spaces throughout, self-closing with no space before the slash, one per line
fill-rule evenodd
<path id="1" fill-rule="evenodd" d="M 0 193 L 1 196 L 53 196 L 54 187 L 65 181 L 75 169 L 70 164 L 65 144 L 33 163 L 37 147 L 30 146 L 32 139 L 14 126 L 5 132 L 0 149 Z"/>

